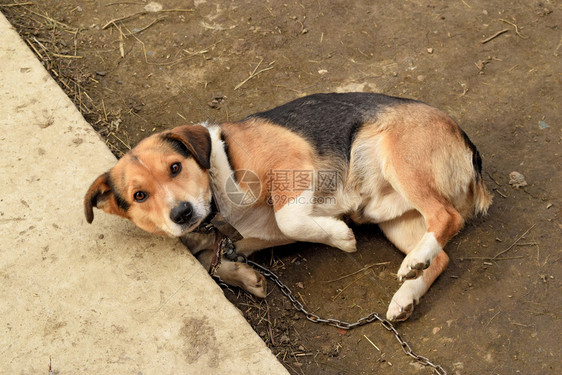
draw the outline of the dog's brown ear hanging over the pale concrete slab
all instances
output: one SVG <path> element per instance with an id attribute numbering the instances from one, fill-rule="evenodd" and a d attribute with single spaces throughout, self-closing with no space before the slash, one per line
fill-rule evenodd
<path id="1" fill-rule="evenodd" d="M 86 221 L 90 224 L 94 221 L 94 207 L 109 214 L 128 218 L 128 203 L 113 190 L 109 172 L 99 176 L 84 197 L 84 214 L 86 215 Z"/>

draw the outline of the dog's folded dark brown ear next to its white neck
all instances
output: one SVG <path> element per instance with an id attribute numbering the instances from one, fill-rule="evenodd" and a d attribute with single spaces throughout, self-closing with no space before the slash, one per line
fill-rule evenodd
<path id="1" fill-rule="evenodd" d="M 185 125 L 164 133 L 164 140 L 185 157 L 192 156 L 203 168 L 211 168 L 211 136 L 201 125 Z"/>

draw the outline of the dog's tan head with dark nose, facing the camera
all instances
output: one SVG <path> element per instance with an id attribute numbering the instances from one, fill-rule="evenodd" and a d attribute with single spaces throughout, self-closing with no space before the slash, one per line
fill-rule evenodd
<path id="1" fill-rule="evenodd" d="M 201 125 L 182 126 L 141 141 L 84 198 L 86 220 L 93 207 L 130 219 L 152 233 L 179 237 L 210 213 L 211 138 Z"/>

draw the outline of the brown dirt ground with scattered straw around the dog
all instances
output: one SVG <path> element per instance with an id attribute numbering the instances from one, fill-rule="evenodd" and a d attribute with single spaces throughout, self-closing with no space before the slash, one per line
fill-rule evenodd
<path id="1" fill-rule="evenodd" d="M 449 268 L 398 330 L 451 374 L 562 373 L 559 2 L 153 5 L 0 0 L 0 11 L 117 156 L 152 132 L 316 92 L 375 91 L 445 110 L 481 151 L 494 204 L 448 244 Z M 512 171 L 528 185 L 511 186 Z M 402 255 L 376 226 L 355 231 L 354 254 L 297 244 L 255 260 L 319 315 L 384 315 Z M 431 373 L 380 324 L 316 325 L 269 290 L 263 301 L 225 294 L 291 373 Z"/>

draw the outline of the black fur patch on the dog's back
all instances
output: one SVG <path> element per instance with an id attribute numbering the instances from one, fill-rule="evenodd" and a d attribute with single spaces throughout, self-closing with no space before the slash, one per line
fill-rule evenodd
<path id="1" fill-rule="evenodd" d="M 246 120 L 266 119 L 307 139 L 320 156 L 335 154 L 349 160 L 355 135 L 365 122 L 386 107 L 414 102 L 374 93 L 314 94 L 253 114 Z"/>

